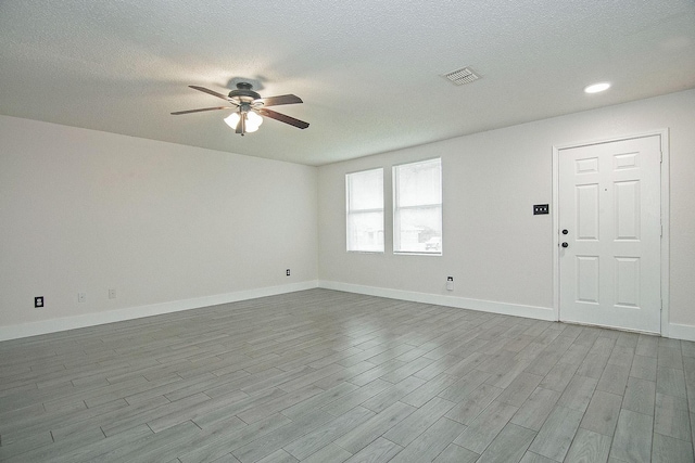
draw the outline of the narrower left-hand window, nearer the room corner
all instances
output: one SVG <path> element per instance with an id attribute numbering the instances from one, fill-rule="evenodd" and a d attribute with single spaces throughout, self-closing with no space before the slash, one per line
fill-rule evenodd
<path id="1" fill-rule="evenodd" d="M 383 253 L 383 169 L 345 176 L 348 250 Z"/>

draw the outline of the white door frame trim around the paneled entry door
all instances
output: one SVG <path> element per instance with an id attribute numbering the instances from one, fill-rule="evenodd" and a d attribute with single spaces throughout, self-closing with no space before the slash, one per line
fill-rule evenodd
<path id="1" fill-rule="evenodd" d="M 660 129 L 648 132 L 641 132 L 624 137 L 611 137 L 584 142 L 573 142 L 553 145 L 553 317 L 556 321 L 560 319 L 560 230 L 559 230 L 559 154 L 561 150 L 582 147 L 593 144 L 610 143 L 616 141 L 632 140 L 658 136 L 661 143 L 661 336 L 669 336 L 669 129 Z"/>

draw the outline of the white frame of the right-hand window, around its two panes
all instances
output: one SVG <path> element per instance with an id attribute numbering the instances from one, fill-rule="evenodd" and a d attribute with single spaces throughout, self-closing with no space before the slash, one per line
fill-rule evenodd
<path id="1" fill-rule="evenodd" d="M 439 203 L 422 203 L 418 205 L 409 205 L 409 206 L 400 206 L 399 198 L 399 190 L 400 190 L 400 177 L 397 170 L 405 166 L 412 166 L 417 164 L 428 164 L 432 162 L 438 162 L 439 164 Z M 391 180 L 393 188 L 393 254 L 394 255 L 415 255 L 415 256 L 443 256 L 443 244 L 444 244 L 444 187 L 443 187 L 443 165 L 441 157 L 431 157 L 428 159 L 415 160 L 410 163 L 402 163 L 397 165 L 393 165 L 391 167 Z M 401 210 L 422 210 L 422 209 L 435 209 L 439 208 L 439 226 L 441 230 L 440 235 L 440 245 L 439 250 L 428 252 L 428 250 L 402 250 L 401 249 Z"/>

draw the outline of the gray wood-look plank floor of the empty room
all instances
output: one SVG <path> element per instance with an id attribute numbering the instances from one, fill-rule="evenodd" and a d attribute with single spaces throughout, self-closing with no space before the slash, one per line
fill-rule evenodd
<path id="1" fill-rule="evenodd" d="M 0 343 L 0 461 L 693 462 L 695 343 L 327 290 Z"/>

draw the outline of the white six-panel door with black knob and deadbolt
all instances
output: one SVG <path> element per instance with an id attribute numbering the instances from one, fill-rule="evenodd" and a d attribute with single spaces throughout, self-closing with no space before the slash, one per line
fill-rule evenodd
<path id="1" fill-rule="evenodd" d="M 560 320 L 659 333 L 660 137 L 558 157 Z"/>

